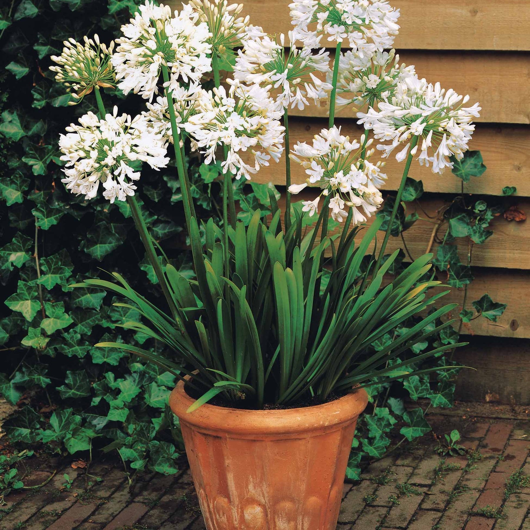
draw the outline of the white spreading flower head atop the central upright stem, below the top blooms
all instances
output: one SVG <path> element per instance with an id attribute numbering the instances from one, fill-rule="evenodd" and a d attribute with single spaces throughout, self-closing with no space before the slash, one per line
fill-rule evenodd
<path id="1" fill-rule="evenodd" d="M 329 52 L 321 49 L 313 53 L 311 48 L 297 48 L 290 32 L 289 40 L 287 55 L 284 34 L 279 42 L 267 35 L 246 40 L 236 59 L 234 77 L 246 84 L 272 85 L 279 92 L 276 98 L 279 110 L 289 105 L 302 110 L 309 104 L 307 99 L 320 103 L 332 89 L 314 75 L 329 72 Z"/>

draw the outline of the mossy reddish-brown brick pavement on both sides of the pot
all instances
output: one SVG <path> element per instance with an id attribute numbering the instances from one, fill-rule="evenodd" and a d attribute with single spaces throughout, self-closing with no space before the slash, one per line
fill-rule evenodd
<path id="1" fill-rule="evenodd" d="M 453 428 L 472 453 L 440 457 L 425 437 L 373 463 L 362 481 L 345 485 L 337 530 L 530 530 L 530 421 L 435 421 L 438 436 Z M 70 464 L 44 488 L 7 497 L 0 530 L 205 530 L 184 466 L 174 476 L 145 475 L 129 491 L 113 463 L 91 467 L 101 478 L 93 484 Z M 49 473 L 39 469 L 34 482 Z"/>

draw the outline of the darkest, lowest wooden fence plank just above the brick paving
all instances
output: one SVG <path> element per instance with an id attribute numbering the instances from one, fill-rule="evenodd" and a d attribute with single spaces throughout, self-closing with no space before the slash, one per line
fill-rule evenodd
<path id="1" fill-rule="evenodd" d="M 527 340 L 472 337 L 455 360 L 465 369 L 456 381 L 456 398 L 530 405 L 530 346 Z"/>

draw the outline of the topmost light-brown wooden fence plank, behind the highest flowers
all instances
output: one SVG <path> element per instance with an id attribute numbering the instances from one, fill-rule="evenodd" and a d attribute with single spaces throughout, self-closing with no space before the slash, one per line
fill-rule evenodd
<path id="1" fill-rule="evenodd" d="M 291 28 L 288 0 L 243 0 L 251 23 L 269 33 Z M 172 2 L 175 5 L 175 2 Z M 403 49 L 530 50 L 527 0 L 392 0 L 401 10 L 396 46 Z"/>

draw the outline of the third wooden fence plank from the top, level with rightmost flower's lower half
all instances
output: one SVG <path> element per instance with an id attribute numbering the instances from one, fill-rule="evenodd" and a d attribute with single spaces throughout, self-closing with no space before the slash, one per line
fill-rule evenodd
<path id="1" fill-rule="evenodd" d="M 363 133 L 353 120 L 337 120 L 337 125 L 342 127 L 343 134 L 352 138 L 359 138 Z M 327 123 L 323 119 L 294 118 L 289 121 L 290 142 L 311 142 L 313 136 L 318 134 Z M 519 196 L 530 196 L 530 128 L 524 126 L 493 127 L 478 125 L 470 142 L 473 150 L 482 152 L 488 170 L 480 178 L 472 178 L 464 185 L 466 193 L 481 193 L 484 195 L 501 195 L 505 186 L 516 186 Z M 376 155 L 374 155 L 374 159 Z M 263 167 L 253 180 L 260 183 L 272 182 L 285 184 L 285 162 L 272 163 Z M 292 179 L 294 183 L 304 182 L 306 179 L 302 166 L 291 164 Z M 388 160 L 386 169 L 388 181 L 385 189 L 396 190 L 401 181 L 403 164 L 396 162 L 392 157 Z M 427 167 L 418 163 L 412 164 L 410 176 L 423 181 L 427 192 L 460 193 L 462 181 L 450 171 L 443 175 L 436 175 Z"/>

